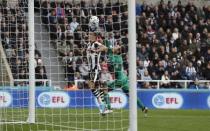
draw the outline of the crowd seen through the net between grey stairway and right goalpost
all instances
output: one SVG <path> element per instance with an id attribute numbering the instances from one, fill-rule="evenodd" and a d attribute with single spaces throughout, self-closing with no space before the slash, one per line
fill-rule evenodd
<path id="1" fill-rule="evenodd" d="M 86 3 L 85 0 L 81 0 L 80 3 L 44 1 L 41 3 L 41 15 L 43 24 L 46 24 L 49 30 L 51 44 L 58 50 L 65 64 L 69 86 L 72 86 L 75 80 L 89 79 L 86 49 L 89 42 L 90 16 L 98 16 L 100 19 L 99 26 L 103 39 L 109 39 L 113 46 L 117 44 L 127 46 L 127 5 L 120 1 L 116 3 L 112 3 L 111 0 L 107 3 L 103 3 L 102 0 L 97 3 Z M 107 59 L 101 59 L 100 63 L 102 68 L 100 80 L 112 80 Z M 79 88 L 88 88 L 83 82 L 78 84 Z"/>

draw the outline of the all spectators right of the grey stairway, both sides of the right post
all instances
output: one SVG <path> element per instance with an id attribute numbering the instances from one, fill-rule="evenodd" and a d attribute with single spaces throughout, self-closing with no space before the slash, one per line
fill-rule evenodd
<path id="1" fill-rule="evenodd" d="M 163 80 L 161 87 L 181 88 L 167 80 L 210 80 L 210 7 L 197 7 L 192 2 L 160 1 L 137 4 L 137 74 L 140 80 Z M 41 3 L 42 21 L 49 29 L 52 44 L 66 64 L 68 81 L 88 79 L 86 46 L 88 20 L 100 19 L 102 37 L 113 47 L 123 46 L 125 71 L 128 69 L 126 3 L 111 0 L 103 3 L 63 1 Z M 56 41 L 56 42 L 55 42 Z M 112 80 L 106 59 L 101 60 L 101 79 Z M 105 77 L 105 78 L 104 78 Z M 70 82 L 71 83 L 71 82 Z M 156 88 L 153 83 L 139 83 L 141 88 Z M 197 87 L 191 83 L 189 88 Z M 83 86 L 84 87 L 84 86 Z M 201 88 L 201 87 L 200 87 Z M 204 86 L 206 88 L 206 86 Z"/>

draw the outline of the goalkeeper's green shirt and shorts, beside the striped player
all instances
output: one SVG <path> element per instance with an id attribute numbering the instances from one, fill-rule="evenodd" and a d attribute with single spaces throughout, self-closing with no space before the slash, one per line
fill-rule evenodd
<path id="1" fill-rule="evenodd" d="M 128 77 L 124 73 L 123 69 L 123 59 L 122 55 L 114 54 L 111 44 L 108 41 L 105 41 L 106 47 L 108 47 L 108 59 L 111 65 L 114 68 L 114 75 L 115 75 L 115 81 L 108 84 L 109 87 L 115 88 L 115 87 L 121 87 L 123 89 L 128 89 Z"/>

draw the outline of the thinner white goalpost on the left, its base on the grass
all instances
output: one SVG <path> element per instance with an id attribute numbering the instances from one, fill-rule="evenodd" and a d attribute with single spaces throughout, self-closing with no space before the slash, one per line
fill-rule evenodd
<path id="1" fill-rule="evenodd" d="M 29 34 L 29 115 L 28 123 L 35 123 L 35 65 L 34 65 L 34 0 L 28 1 Z"/>

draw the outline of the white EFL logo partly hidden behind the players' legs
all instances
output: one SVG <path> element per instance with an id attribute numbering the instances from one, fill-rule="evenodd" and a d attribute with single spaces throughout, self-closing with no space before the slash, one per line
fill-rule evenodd
<path id="1" fill-rule="evenodd" d="M 111 108 L 121 109 L 127 105 L 127 96 L 122 92 L 109 92 L 109 100 Z M 98 106 L 98 101 L 95 99 L 96 105 Z"/>

